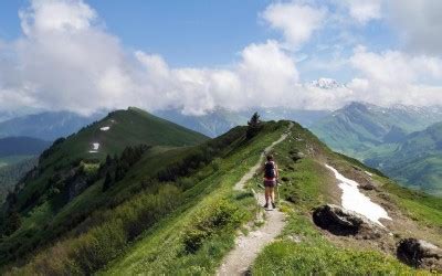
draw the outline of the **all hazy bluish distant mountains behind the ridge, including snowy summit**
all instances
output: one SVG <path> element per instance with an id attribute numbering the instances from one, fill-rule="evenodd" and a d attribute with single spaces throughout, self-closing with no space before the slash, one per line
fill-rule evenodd
<path id="1" fill-rule="evenodd" d="M 322 89 L 345 87 L 345 85 L 329 78 L 320 78 L 308 85 Z M 408 173 L 402 173 L 400 168 L 396 167 L 403 166 L 401 162 L 393 161 L 404 152 L 408 147 L 406 145 L 414 137 L 415 131 L 423 131 L 421 135 L 424 135 L 425 128 L 442 121 L 441 107 L 403 105 L 380 107 L 367 103 L 351 103 L 335 112 L 297 110 L 283 107 L 256 107 L 235 112 L 219 107 L 202 116 L 185 115 L 180 109 L 157 110 L 154 114 L 213 138 L 235 126 L 246 125 L 254 112 L 257 112 L 263 120 L 290 119 L 298 121 L 304 127 L 309 128 L 332 149 L 373 166 L 407 185 L 431 193 L 438 193 L 435 189 L 442 187 L 442 178 L 436 166 L 439 161 L 434 161 L 439 157 L 439 152 L 434 151 L 434 155 L 430 155 L 431 150 L 429 150 L 425 151 L 425 155 L 415 156 L 411 152 L 411 149 L 408 150 L 407 160 L 420 166 L 420 168 L 408 166 Z M 27 136 L 54 140 L 59 137 L 72 135 L 101 117 L 103 115 L 95 114 L 84 117 L 69 112 L 18 117 L 0 123 L 0 138 Z M 436 139 L 434 140 L 436 141 Z M 94 151 L 93 146 L 90 150 Z M 397 150 L 402 153 L 398 153 Z M 413 148 L 413 150 L 415 150 L 415 153 L 420 152 L 418 148 Z M 12 161 L 20 160 L 23 159 Z M 386 164 L 387 160 L 389 160 L 389 166 Z M 7 160 L 7 163 L 12 161 Z M 429 163 L 431 166 L 428 166 Z M 421 177 L 417 177 L 418 174 L 421 174 Z"/>

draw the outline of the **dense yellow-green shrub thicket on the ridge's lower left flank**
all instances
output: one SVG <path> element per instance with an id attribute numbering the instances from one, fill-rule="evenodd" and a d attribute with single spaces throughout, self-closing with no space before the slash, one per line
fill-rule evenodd
<path id="1" fill-rule="evenodd" d="M 164 184 L 158 192 L 140 193 L 96 216 L 90 230 L 38 254 L 29 265 L 12 275 L 93 274 L 114 259 L 127 243 L 181 203 L 181 191 Z"/>

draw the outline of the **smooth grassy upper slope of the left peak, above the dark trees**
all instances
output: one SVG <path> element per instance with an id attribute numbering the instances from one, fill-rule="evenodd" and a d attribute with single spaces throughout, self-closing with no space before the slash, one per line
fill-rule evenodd
<path id="1" fill-rule="evenodd" d="M 110 127 L 103 131 L 102 127 Z M 70 168 L 78 160 L 103 161 L 107 155 L 119 155 L 127 146 L 193 146 L 208 138 L 192 130 L 162 120 L 137 108 L 117 110 L 66 140 L 53 146 L 40 158 L 39 177 L 24 184 L 19 194 L 19 205 L 38 198 L 45 190 L 49 179 L 60 169 Z M 98 142 L 98 152 L 91 153 L 92 144 Z M 32 200 L 31 200 L 32 201 Z"/>

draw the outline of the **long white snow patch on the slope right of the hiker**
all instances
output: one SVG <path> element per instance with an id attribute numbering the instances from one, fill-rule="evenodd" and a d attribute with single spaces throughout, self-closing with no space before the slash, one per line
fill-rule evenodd
<path id="1" fill-rule="evenodd" d="M 338 185 L 343 190 L 343 208 L 364 215 L 381 226 L 383 225 L 379 222 L 380 219 L 391 220 L 382 206 L 372 202 L 370 198 L 359 191 L 358 182 L 344 177 L 332 166 L 325 166 L 335 173 L 336 179 L 339 181 Z"/>

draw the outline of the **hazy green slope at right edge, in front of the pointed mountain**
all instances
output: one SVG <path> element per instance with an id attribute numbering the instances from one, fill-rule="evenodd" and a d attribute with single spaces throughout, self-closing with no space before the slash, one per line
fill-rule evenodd
<path id="1" fill-rule="evenodd" d="M 442 123 L 407 136 L 393 152 L 366 162 L 410 188 L 442 195 Z"/>

